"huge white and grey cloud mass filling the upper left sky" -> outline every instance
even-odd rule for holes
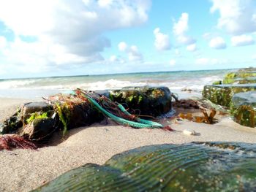
[[[2,52],[7,54],[0,65],[4,61],[6,65],[26,66],[30,58],[41,68],[50,69],[60,64],[71,68],[72,64],[100,61],[104,59],[100,53],[110,47],[110,40],[103,34],[145,23],[150,6],[150,0],[0,1],[0,21],[15,34],[12,42],[1,39]],[[34,41],[24,42],[21,36],[33,37]],[[41,50],[43,54],[38,53]],[[18,60],[22,56],[18,53],[24,53],[26,59]],[[15,57],[7,58],[10,55]]]

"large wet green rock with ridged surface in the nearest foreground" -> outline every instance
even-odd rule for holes
[[[35,191],[255,191],[256,145],[151,145],[86,164]]]

